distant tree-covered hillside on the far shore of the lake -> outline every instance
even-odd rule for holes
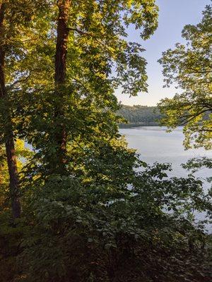
[[[121,124],[120,127],[129,127],[134,125],[158,125],[158,119],[161,114],[156,106],[126,106],[123,105],[119,115],[129,121],[128,125]]]

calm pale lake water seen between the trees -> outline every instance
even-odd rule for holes
[[[125,135],[129,147],[134,148],[140,154],[141,159],[148,164],[155,161],[171,163],[172,176],[187,176],[180,164],[193,157],[210,157],[212,151],[203,148],[184,150],[182,142],[184,135],[182,128],[176,128],[172,133],[166,133],[165,128],[158,126],[142,126],[136,128],[120,128],[119,133]],[[211,176],[211,170],[201,168],[196,176],[205,178]]]

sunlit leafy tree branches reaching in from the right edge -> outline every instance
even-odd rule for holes
[[[187,44],[176,44],[163,52],[165,86],[177,84],[180,91],[172,99],[158,104],[165,114],[162,124],[168,128],[184,125],[184,146],[212,147],[212,6],[206,6],[197,25],[186,25],[182,37]]]

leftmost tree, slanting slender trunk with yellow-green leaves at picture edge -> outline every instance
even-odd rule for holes
[[[0,126],[1,144],[5,144],[13,218],[20,217],[20,192],[15,150],[17,130],[14,121],[17,116],[12,93],[25,83],[28,74],[20,68],[27,49],[28,27],[35,14],[42,11],[45,1],[1,1],[0,4]]]

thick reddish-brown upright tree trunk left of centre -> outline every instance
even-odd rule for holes
[[[59,0],[57,1],[59,8],[58,21],[57,21],[57,45],[55,54],[55,94],[59,97],[59,102],[55,110],[56,118],[56,142],[57,142],[57,159],[59,163],[59,173],[65,171],[66,166],[66,130],[64,128],[64,110],[63,110],[63,87],[66,81],[66,54],[67,54],[67,42],[69,36],[69,8],[71,6],[71,0]],[[57,169],[58,171],[58,169]]]

